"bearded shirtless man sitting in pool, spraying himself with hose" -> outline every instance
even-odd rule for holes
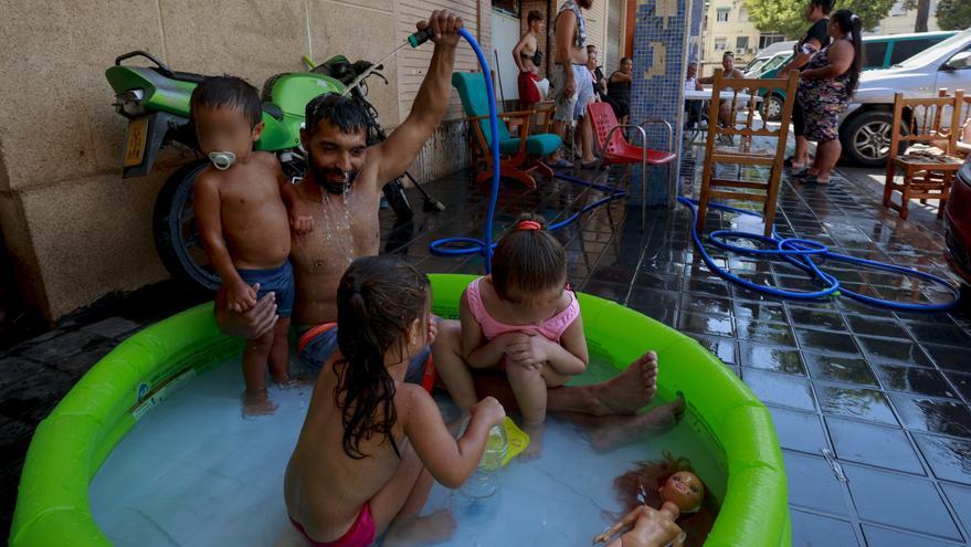
[[[434,29],[436,18],[444,24],[450,17],[455,18],[435,12],[430,24]],[[349,98],[323,96],[307,105],[302,139],[309,161],[306,177],[294,190],[313,217],[314,231],[307,235],[292,233],[291,262],[296,284],[293,324],[300,334],[297,349],[300,361],[314,370],[319,370],[337,348],[335,322],[340,277],[353,259],[378,254],[381,185],[404,172],[445,115],[457,40],[457,35],[435,39],[435,51],[411,113],[381,144],[367,146],[365,114]],[[226,334],[255,338],[273,328],[276,305],[271,293],[245,313],[232,312],[225,294],[220,292],[217,323]],[[432,328],[437,330],[430,348],[435,369],[452,390],[456,379],[461,383],[468,378],[462,359],[460,324],[441,320]],[[428,351],[410,364],[407,381],[421,383],[426,357]],[[629,417],[654,398],[656,378],[657,359],[651,353],[610,381],[550,389],[547,408],[597,417]],[[507,408],[515,408],[516,399],[504,378],[487,379],[476,389],[481,397],[495,393],[503,404],[509,404]],[[623,422],[625,427],[637,423]]]

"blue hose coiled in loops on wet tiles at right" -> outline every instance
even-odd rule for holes
[[[929,273],[920,272],[918,270],[898,266],[895,264],[886,264],[883,262],[876,262],[866,259],[857,259],[856,256],[848,256],[846,254],[840,254],[831,252],[830,249],[816,241],[798,239],[798,238],[779,238],[775,233],[775,230],[772,230],[772,236],[767,238],[761,234],[749,233],[749,232],[739,232],[735,230],[717,230],[708,234],[708,241],[711,242],[717,248],[724,249],[730,252],[757,255],[757,256],[777,256],[780,257],[790,264],[799,267],[804,271],[810,277],[816,281],[822,288],[820,291],[789,291],[784,288],[775,288],[767,285],[760,285],[758,283],[752,283],[749,280],[739,277],[732,273],[729,273],[721,266],[715,263],[708,252],[705,250],[705,245],[701,242],[701,238],[698,235],[697,230],[697,217],[698,217],[698,203],[696,200],[678,197],[678,203],[689,208],[692,210],[692,239],[695,241],[695,246],[698,248],[698,252],[701,254],[701,260],[705,261],[705,264],[713,272],[718,275],[725,277],[732,283],[738,283],[747,288],[752,291],[758,291],[760,293],[769,294],[772,296],[779,296],[782,298],[793,298],[801,301],[813,301],[825,298],[832,295],[844,294],[855,301],[863,302],[865,304],[869,304],[872,306],[885,307],[898,312],[946,312],[948,309],[953,308],[958,304],[958,299],[960,298],[960,292],[957,287],[954,287],[947,280],[938,277],[937,275],[931,275]],[[710,203],[709,207],[714,209],[721,209],[724,211],[730,211],[739,214],[748,214],[750,217],[759,217],[759,214],[753,213],[751,211],[746,211],[743,209],[737,209],[729,206],[722,206],[720,203]],[[748,246],[733,245],[727,242],[727,240],[750,240],[756,241],[760,244],[758,249],[752,249]],[[907,275],[911,277],[918,277],[925,281],[929,281],[937,285],[942,285],[948,288],[953,295],[953,299],[946,303],[940,304],[906,304],[901,302],[893,302],[883,298],[875,298],[873,296],[866,296],[864,294],[859,294],[853,292],[845,286],[840,285],[840,280],[837,280],[834,275],[828,274],[820,269],[814,259],[826,259],[838,262],[848,262],[851,264],[857,264],[870,270],[883,270],[886,272],[899,273],[901,275]]]

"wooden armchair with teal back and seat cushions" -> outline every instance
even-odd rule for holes
[[[489,145],[492,143],[492,130],[489,129],[488,116],[488,97],[486,94],[485,80],[482,73],[477,72],[456,72],[452,74],[452,85],[458,91],[462,98],[462,107],[465,111],[472,130],[475,133],[478,149],[488,162],[488,169],[479,171],[476,181],[482,182],[493,177],[493,157],[489,154]],[[556,151],[562,140],[559,136],[545,133],[531,134],[530,119],[536,115],[536,111],[507,112],[499,114],[504,123],[499,124],[499,152],[503,158],[499,160],[499,176],[503,178],[516,179],[524,185],[536,188],[536,179],[532,172],[539,172],[548,178],[552,178],[553,171],[542,164],[540,159]],[[549,124],[549,115],[546,124]],[[508,120],[518,119],[520,124],[520,136],[513,137],[509,133]]]

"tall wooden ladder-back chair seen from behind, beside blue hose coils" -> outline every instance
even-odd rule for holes
[[[758,201],[764,203],[762,218],[766,223],[766,235],[772,234],[772,223],[775,219],[775,204],[779,198],[779,181],[782,177],[782,164],[785,158],[785,139],[789,137],[789,119],[792,117],[792,105],[795,97],[795,86],[799,74],[790,73],[788,78],[731,78],[724,77],[721,69],[715,71],[714,87],[711,92],[710,112],[708,114],[708,139],[705,143],[705,168],[701,173],[701,193],[698,199],[698,231],[704,231],[705,219],[708,212],[708,201],[714,199],[733,199],[741,201]],[[778,128],[769,127],[768,115],[762,105],[759,122],[756,123],[758,111],[758,95],[760,90],[772,92],[785,91],[785,103],[782,106],[782,118]],[[731,112],[738,113],[739,106],[746,106],[742,115],[735,117],[730,127],[722,127],[718,119],[718,109],[722,92],[730,93],[730,98],[725,98],[731,105]],[[739,98],[740,93],[748,94],[748,98]],[[741,101],[741,103],[740,103]],[[738,145],[735,139],[738,137]],[[775,139],[775,146],[760,148],[756,146],[754,137]],[[731,140],[730,146],[724,145],[724,140]],[[714,171],[715,164],[735,164],[738,166],[763,166],[769,168],[769,176],[764,181],[733,180],[720,178]],[[721,190],[725,188],[727,190]],[[742,189],[746,191],[738,191]]]

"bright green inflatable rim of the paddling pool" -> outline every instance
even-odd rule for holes
[[[457,317],[474,276],[433,274],[435,313]],[[727,492],[706,546],[791,545],[785,469],[766,407],[698,343],[613,302],[580,295],[591,354],[629,364],[654,349],[662,398],[683,392],[724,452]],[[110,545],[91,514],[88,484],[144,412],[196,374],[242,350],[219,332],[212,304],[152,325],[97,362],[38,425],[23,473],[10,545]]]

